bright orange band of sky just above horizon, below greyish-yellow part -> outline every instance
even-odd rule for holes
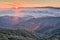
[[[60,4],[28,4],[28,3],[0,3],[0,8],[11,8],[11,7],[41,7],[41,6],[54,6],[60,7]]]

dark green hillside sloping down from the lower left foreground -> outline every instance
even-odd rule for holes
[[[39,40],[38,36],[25,29],[0,28],[0,40]]]

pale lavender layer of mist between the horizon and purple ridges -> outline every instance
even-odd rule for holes
[[[53,16],[53,17],[60,17],[60,9],[53,9],[53,8],[20,8],[20,11],[17,14],[21,16],[34,16],[34,17],[46,17],[46,16]],[[0,9],[0,16],[1,15],[15,15],[15,12],[12,9]],[[15,15],[15,16],[18,16]]]

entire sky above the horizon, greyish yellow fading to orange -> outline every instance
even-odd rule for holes
[[[0,0],[0,8],[41,6],[60,7],[60,0]]]

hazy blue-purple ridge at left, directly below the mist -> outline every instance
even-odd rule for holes
[[[17,17],[18,20],[16,20],[16,24],[18,24],[19,22],[23,22],[23,21],[27,21],[31,18],[34,18],[32,16],[26,16],[26,17],[18,17],[18,16],[0,16],[0,27],[14,27],[13,24],[14,22],[14,17]]]

